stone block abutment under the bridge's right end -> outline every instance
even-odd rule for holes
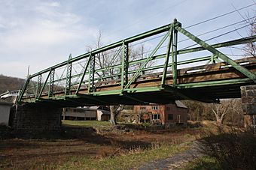
[[[256,85],[241,87],[242,111],[245,129],[256,133]]]

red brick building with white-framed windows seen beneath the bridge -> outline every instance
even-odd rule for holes
[[[134,106],[133,111],[140,115],[141,122],[163,124],[166,127],[175,124],[187,125],[187,106],[179,100],[166,105]]]

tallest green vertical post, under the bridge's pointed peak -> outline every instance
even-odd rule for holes
[[[177,23],[177,19],[174,19],[174,25]],[[177,83],[177,45],[178,45],[178,31],[175,29],[175,26],[172,26],[174,36],[173,36],[173,43],[172,43],[172,77],[173,83],[172,86],[175,87]]]

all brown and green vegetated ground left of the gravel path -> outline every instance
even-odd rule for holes
[[[130,162],[139,166],[184,151],[199,132],[195,129],[125,131],[109,124],[96,129],[69,126],[58,136],[42,134],[34,139],[5,136],[0,140],[0,169],[69,169],[74,165],[78,169],[108,169],[113,165],[118,169],[116,161],[123,162],[119,166],[134,168]],[[181,143],[187,145],[178,148]]]

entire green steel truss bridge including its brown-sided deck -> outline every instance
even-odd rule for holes
[[[178,49],[178,34],[197,46]],[[136,57],[136,44],[151,40],[151,49],[137,52]],[[256,58],[231,59],[221,48],[255,40],[252,36],[210,45],[175,19],[75,58],[70,55],[67,61],[29,76],[17,103],[133,105],[184,99],[210,103],[240,97],[240,86],[256,82]]]

